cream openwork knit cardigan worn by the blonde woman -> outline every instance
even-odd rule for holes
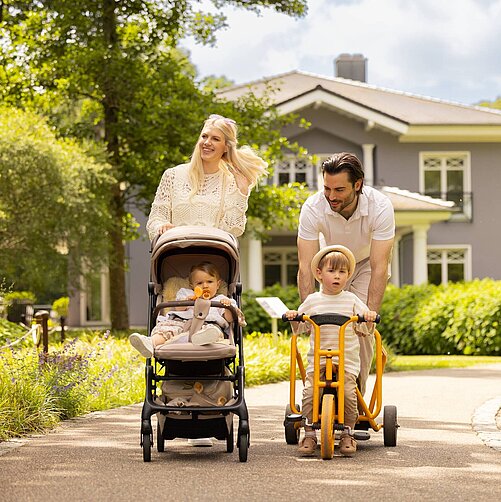
[[[216,227],[235,237],[242,235],[249,196],[240,192],[235,178],[222,171],[207,174],[202,187],[190,200],[188,169],[188,164],[181,164],[164,172],[146,224],[150,240],[156,237],[158,229],[165,223]]]

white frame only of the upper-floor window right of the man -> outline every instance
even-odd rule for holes
[[[469,151],[425,151],[419,153],[419,191],[425,193],[426,187],[424,184],[425,159],[429,157],[437,157],[441,159],[440,166],[440,191],[446,193],[447,190],[447,159],[450,157],[464,157],[463,167],[463,193],[469,195],[468,200],[464,200],[463,211],[455,213],[451,216],[451,221],[471,221],[472,219],[472,192],[471,192],[471,153]]]

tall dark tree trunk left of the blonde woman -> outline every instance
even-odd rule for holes
[[[106,149],[115,174],[118,174],[120,172],[120,150],[117,131],[120,102],[118,98],[117,76],[115,75],[115,71],[113,71],[113,61],[119,57],[117,52],[115,6],[115,0],[104,1],[103,35],[108,47],[109,57],[103,62],[103,108]],[[117,176],[117,183],[112,188],[111,209],[113,226],[110,231],[108,265],[110,276],[111,328],[124,330],[129,328],[129,313],[125,291],[125,249],[123,242],[125,208],[120,190],[120,176]]]

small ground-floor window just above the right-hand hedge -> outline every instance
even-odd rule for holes
[[[470,247],[428,247],[428,282],[445,284],[471,280]]]

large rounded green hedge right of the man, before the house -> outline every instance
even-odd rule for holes
[[[388,287],[380,331],[400,354],[501,354],[501,282]]]

